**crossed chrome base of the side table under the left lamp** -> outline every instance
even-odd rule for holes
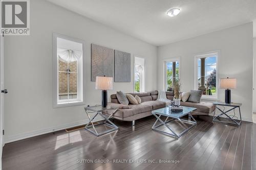
[[[89,109],[87,108],[84,108],[86,110],[86,114],[90,120],[90,122],[84,127],[85,130],[87,130],[88,132],[94,134],[95,136],[100,136],[100,135],[103,135],[103,134],[106,134],[106,133],[109,133],[109,132],[112,132],[112,131],[115,131],[115,130],[118,130],[118,127],[112,123],[110,121],[110,117],[117,111],[117,109],[110,115],[110,116],[105,116],[102,114],[101,110],[100,111],[97,111],[97,113],[93,116],[93,118],[90,117],[90,115],[88,113],[95,113],[95,112],[88,112]],[[104,118],[104,122],[101,122],[101,123],[98,123],[98,124],[95,124],[95,122],[93,122],[94,118],[97,116],[97,115],[100,115],[102,118]],[[90,125],[91,124],[91,125]],[[97,130],[96,130],[96,127],[97,126],[101,126],[101,125],[106,125],[112,129],[110,130],[106,130],[106,131],[103,131],[103,132],[100,132],[98,133]],[[93,128],[93,130],[91,130],[90,128]]]

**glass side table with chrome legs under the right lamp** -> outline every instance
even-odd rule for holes
[[[218,116],[215,116],[215,113],[216,113],[216,109],[215,109],[214,117],[212,117],[212,122],[218,122],[218,123],[233,125],[233,126],[240,126],[241,125],[241,123],[242,123],[241,111],[240,111],[240,106],[242,106],[241,103],[227,104],[227,103],[224,103],[224,102],[214,102],[214,105],[215,105],[216,109],[218,109],[221,112],[221,114],[219,114]],[[218,106],[228,106],[228,107],[231,107],[231,109],[224,112]],[[227,112],[230,112],[232,110],[234,111],[234,109],[236,109],[236,108],[239,109],[240,120],[239,119],[234,119],[234,117],[237,117],[235,112],[234,112],[234,115],[228,115],[227,114]],[[219,118],[221,118],[222,115],[226,116],[226,118],[222,117],[222,118],[226,119],[226,121],[219,119]],[[237,118],[239,118],[239,117],[237,117]],[[229,122],[228,122],[228,120],[229,120]]]

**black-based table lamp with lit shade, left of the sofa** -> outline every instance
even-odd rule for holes
[[[101,92],[101,106],[103,108],[108,105],[108,92],[106,90],[113,89],[113,78],[112,77],[96,77],[96,90],[102,90]]]

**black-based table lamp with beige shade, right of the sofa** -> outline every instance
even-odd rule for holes
[[[236,78],[222,78],[220,79],[220,88],[225,90],[225,103],[231,103],[231,90],[237,88],[237,79]]]

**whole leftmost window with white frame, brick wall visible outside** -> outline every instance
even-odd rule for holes
[[[83,43],[55,35],[55,106],[77,105],[83,100]]]

